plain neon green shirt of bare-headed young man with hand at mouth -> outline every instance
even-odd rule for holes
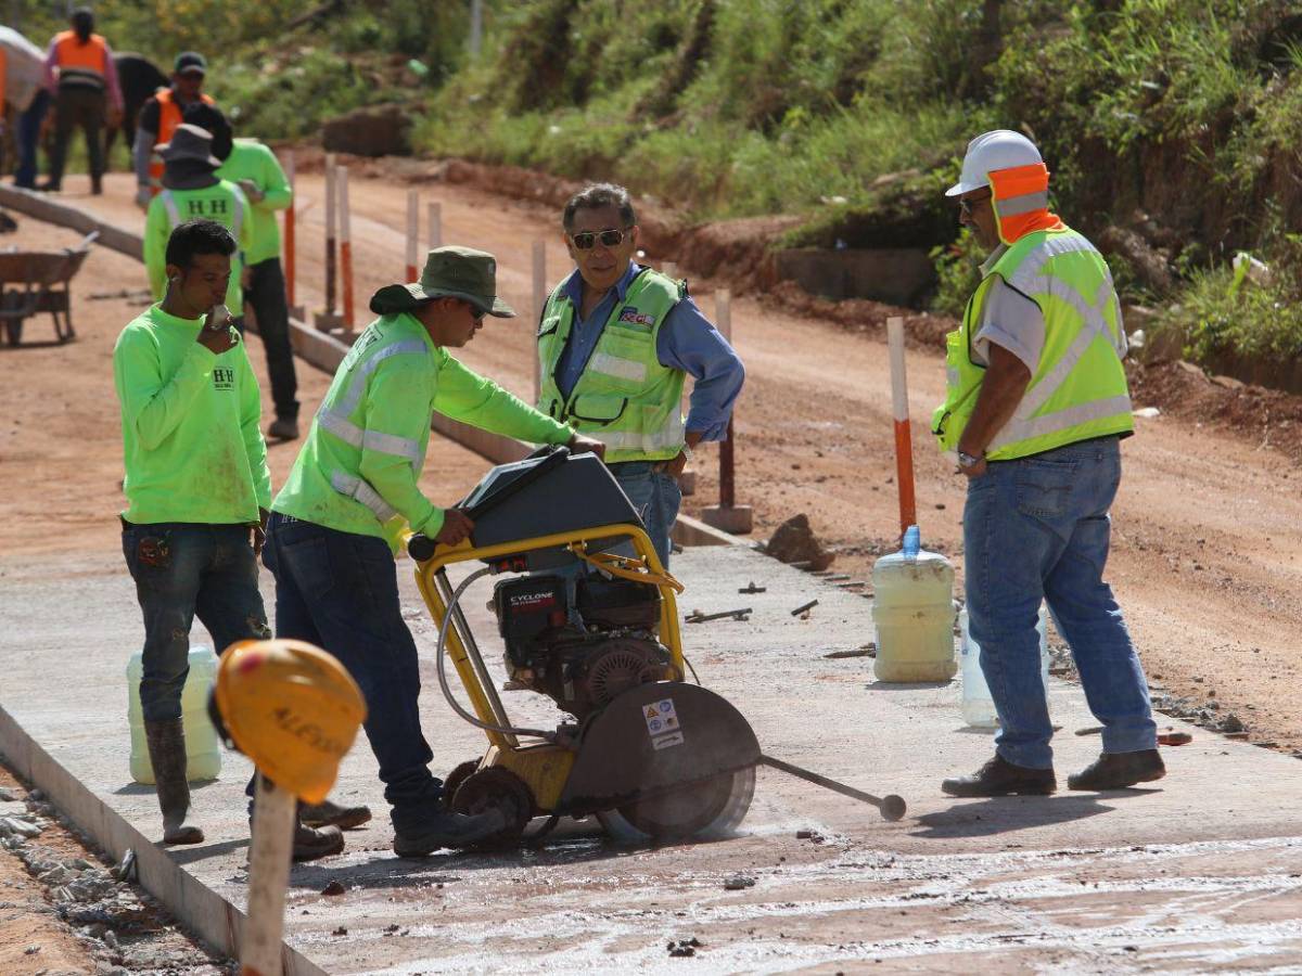
[[[155,305],[113,346],[128,522],[241,524],[271,505],[258,377],[243,342],[216,355],[201,325]]]

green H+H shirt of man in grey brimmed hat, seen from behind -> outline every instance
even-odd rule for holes
[[[243,269],[241,252],[253,245],[253,220],[243,190],[228,180],[219,180],[202,190],[164,189],[150,200],[145,215],[145,271],[150,276],[154,301],[163,301],[167,291],[167,242],[172,230],[186,220],[207,217],[234,234],[240,246],[230,255],[230,284],[227,286],[227,308],[232,315],[243,315],[243,289],[240,272]]]

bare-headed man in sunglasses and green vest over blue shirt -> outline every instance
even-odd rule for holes
[[[686,282],[633,260],[638,226],[628,190],[587,186],[561,223],[575,269],[539,323],[538,409],[605,445],[611,472],[668,566],[682,501],[676,479],[693,448],[725,436],[745,370]],[[687,373],[695,385],[684,422]]]

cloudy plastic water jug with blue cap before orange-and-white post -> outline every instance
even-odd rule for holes
[[[954,662],[954,567],[921,545],[917,526],[904,549],[872,566],[878,681],[949,681]]]

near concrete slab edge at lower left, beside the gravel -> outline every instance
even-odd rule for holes
[[[190,874],[60,765],[0,707],[0,752],[26,782],[40,789],[81,830],[115,860],[135,851],[141,885],[168,907],[186,928],[219,953],[238,958],[245,914]],[[327,976],[326,969],[281,943],[285,976]]]

